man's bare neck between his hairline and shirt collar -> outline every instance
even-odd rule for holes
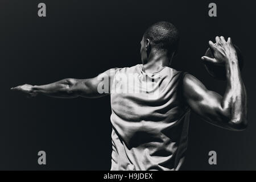
[[[143,64],[144,72],[155,73],[167,67],[170,64],[170,59],[166,54],[148,56],[146,64]]]

